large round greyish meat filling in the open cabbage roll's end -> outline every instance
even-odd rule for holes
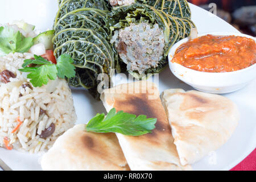
[[[127,71],[144,73],[156,68],[164,52],[164,34],[158,24],[134,24],[115,31],[112,42],[120,58],[127,64]]]

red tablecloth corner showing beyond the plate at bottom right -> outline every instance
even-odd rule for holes
[[[256,171],[256,149],[230,171]]]

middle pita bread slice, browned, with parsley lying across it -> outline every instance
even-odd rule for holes
[[[106,89],[101,94],[101,100],[107,111],[115,107],[117,111],[158,119],[156,128],[150,134],[131,137],[117,133],[131,170],[192,169],[189,165],[180,164],[158,88],[152,82],[138,81]]]

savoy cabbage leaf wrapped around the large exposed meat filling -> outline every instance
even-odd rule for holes
[[[149,68],[145,71],[146,75],[154,75],[160,73],[168,64],[167,56],[170,48],[180,39],[190,35],[191,28],[194,27],[189,18],[179,18],[165,13],[163,10],[157,10],[152,6],[143,5],[141,3],[133,3],[128,6],[113,7],[113,11],[109,15],[110,30],[112,34],[115,30],[120,30],[130,26],[131,23],[139,24],[142,22],[149,23],[153,26],[155,23],[162,28],[164,33],[165,48],[164,55],[159,61],[158,66]],[[121,58],[119,57],[121,60]],[[140,75],[136,71],[129,71],[137,79],[142,79],[144,75]],[[144,77],[147,78],[147,77]]]

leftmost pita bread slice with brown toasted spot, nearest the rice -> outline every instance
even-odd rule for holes
[[[113,133],[89,133],[76,125],[61,135],[43,155],[46,171],[123,171],[129,170]]]

